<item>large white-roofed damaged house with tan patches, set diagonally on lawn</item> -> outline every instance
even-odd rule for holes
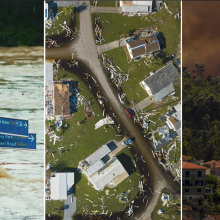
[[[98,191],[105,186],[113,188],[129,175],[115,156],[111,156],[112,149],[103,145],[79,164],[79,168],[88,181]]]

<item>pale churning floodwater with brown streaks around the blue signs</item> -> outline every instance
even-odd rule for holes
[[[0,116],[29,120],[37,150],[0,148],[0,218],[44,218],[43,47],[0,48]]]

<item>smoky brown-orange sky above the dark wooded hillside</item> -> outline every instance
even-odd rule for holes
[[[220,1],[183,1],[183,66],[205,64],[205,76],[220,76]]]

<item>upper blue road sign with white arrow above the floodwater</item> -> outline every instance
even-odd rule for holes
[[[28,137],[28,120],[0,117],[0,133]]]

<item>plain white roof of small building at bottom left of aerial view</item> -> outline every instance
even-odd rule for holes
[[[54,177],[50,179],[51,185],[51,199],[66,200],[67,191],[74,184],[74,173],[55,173]]]

